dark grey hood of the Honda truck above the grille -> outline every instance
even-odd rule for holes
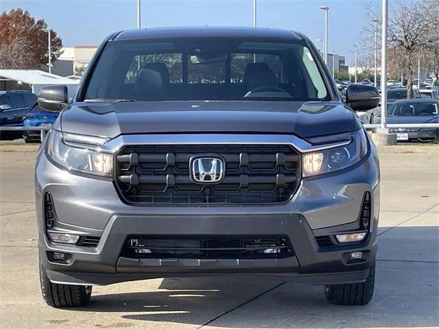
[[[296,134],[305,138],[350,132],[358,121],[337,101],[135,101],[74,103],[57,123],[64,132],[108,138],[161,133]]]

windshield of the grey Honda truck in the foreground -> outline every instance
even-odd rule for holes
[[[108,42],[84,100],[329,99],[305,45],[230,38]]]

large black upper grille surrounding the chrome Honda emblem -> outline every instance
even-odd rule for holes
[[[192,158],[224,160],[224,180],[191,178]],[[132,204],[272,204],[286,202],[300,181],[300,156],[288,145],[136,145],[121,149],[116,184]]]

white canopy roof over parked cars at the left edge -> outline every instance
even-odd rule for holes
[[[38,95],[41,88],[55,84],[67,86],[68,97],[75,95],[79,80],[71,80],[59,75],[50,74],[40,70],[3,70],[0,69],[0,81],[14,81],[18,84],[27,84],[32,88],[32,93]]]

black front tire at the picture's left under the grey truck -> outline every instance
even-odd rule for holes
[[[40,284],[43,300],[53,307],[86,306],[91,296],[91,286],[58,284],[50,282],[46,269],[40,264]]]

